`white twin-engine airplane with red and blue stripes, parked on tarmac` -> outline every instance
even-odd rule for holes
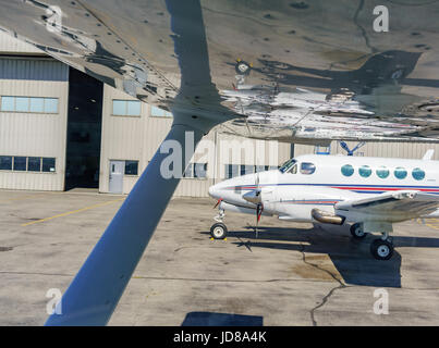
[[[429,160],[431,154],[428,151],[423,160],[307,154],[279,170],[221,182],[209,188],[219,207],[210,234],[225,238],[225,210],[256,214],[257,222],[260,215],[277,215],[294,222],[351,224],[356,239],[381,233],[370,252],[389,260],[393,223],[439,216],[439,163]]]

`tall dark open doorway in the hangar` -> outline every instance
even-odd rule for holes
[[[65,189],[99,187],[103,84],[75,69],[69,72]]]

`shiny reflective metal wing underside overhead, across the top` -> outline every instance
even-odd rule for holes
[[[293,142],[439,140],[439,3],[0,0],[0,29],[163,109]]]

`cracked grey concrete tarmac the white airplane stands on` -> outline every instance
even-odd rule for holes
[[[66,289],[123,199],[0,190],[0,325],[45,323],[48,290]],[[439,220],[395,225],[377,261],[373,236],[276,217],[256,238],[255,216],[227,213],[211,240],[214,203],[170,202],[110,325],[439,325]]]

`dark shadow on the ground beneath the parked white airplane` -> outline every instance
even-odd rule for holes
[[[229,231],[237,247],[249,251],[256,248],[327,253],[346,285],[374,287],[401,287],[401,254],[399,247],[439,248],[439,238],[393,237],[395,250],[392,259],[378,261],[369,252],[369,246],[378,236],[354,240],[349,231],[324,231],[320,228],[258,227],[258,237],[253,226]],[[290,243],[289,243],[290,241]],[[302,244],[301,244],[302,243]],[[313,262],[314,263],[314,262]]]

